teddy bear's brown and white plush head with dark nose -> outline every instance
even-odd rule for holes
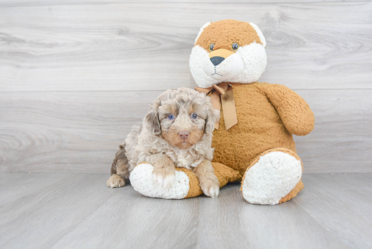
[[[190,55],[190,70],[199,87],[221,82],[256,82],[265,71],[266,40],[254,23],[221,20],[204,24]]]

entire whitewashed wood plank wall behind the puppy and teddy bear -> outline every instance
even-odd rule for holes
[[[108,172],[162,91],[195,86],[199,27],[233,18],[267,38],[260,81],[315,113],[295,138],[304,171],[372,172],[371,2],[81,2],[0,2],[0,171]]]

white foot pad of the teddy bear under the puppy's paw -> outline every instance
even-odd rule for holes
[[[158,187],[152,180],[152,171],[154,167],[148,163],[137,165],[130,173],[130,184],[138,193],[163,199],[183,199],[187,196],[189,180],[187,175],[182,171],[176,171],[175,184],[167,189]]]

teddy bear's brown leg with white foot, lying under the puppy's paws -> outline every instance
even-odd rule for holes
[[[212,162],[212,166],[220,188],[225,186],[227,182],[232,182],[241,178],[238,171],[223,164]],[[154,167],[146,162],[138,164],[133,169],[129,179],[134,190],[144,196],[163,199],[184,199],[203,194],[199,186],[199,180],[192,170],[175,168],[176,180],[174,185],[168,189],[164,189],[154,184],[152,179],[153,169]]]

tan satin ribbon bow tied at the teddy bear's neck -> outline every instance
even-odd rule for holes
[[[221,111],[221,104],[223,110],[223,119],[225,120],[226,130],[238,124],[238,118],[236,117],[235,100],[232,87],[226,82],[222,82],[218,85],[213,85],[208,88],[195,87],[195,90],[199,93],[206,95],[210,94],[212,106],[214,109]],[[218,129],[219,120],[214,123],[214,128]]]

